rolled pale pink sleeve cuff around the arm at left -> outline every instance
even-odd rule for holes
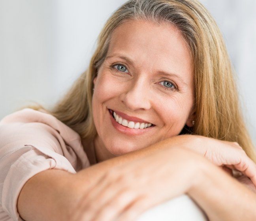
[[[23,221],[17,211],[17,199],[22,187],[32,176],[47,169],[62,169],[76,173],[63,155],[39,146],[24,146],[30,150],[11,165],[2,189],[2,208],[13,221]]]

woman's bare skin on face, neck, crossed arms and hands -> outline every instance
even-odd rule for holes
[[[177,136],[185,124],[192,126],[195,114],[192,64],[179,31],[164,24],[127,22],[112,36],[107,56],[114,53],[129,56],[134,65],[120,58],[105,60],[94,79],[93,118],[99,135],[94,146],[100,163],[72,176],[59,170],[33,176],[18,199],[21,217],[132,221],[187,193],[210,221],[255,220],[256,166],[239,144]],[[127,71],[110,68],[117,64]],[[161,76],[159,70],[176,73],[185,84],[179,77]],[[165,90],[163,81],[178,90]],[[107,108],[156,126],[144,135],[122,134],[111,124]],[[225,171],[220,169],[224,166]],[[239,181],[247,186],[229,169],[241,171]]]

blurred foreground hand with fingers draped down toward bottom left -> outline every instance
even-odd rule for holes
[[[92,184],[69,220],[135,220],[152,206],[187,193],[205,162],[191,150],[174,147],[129,161]]]

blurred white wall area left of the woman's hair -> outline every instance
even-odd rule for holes
[[[53,105],[85,71],[96,38],[124,0],[0,0],[0,119]]]

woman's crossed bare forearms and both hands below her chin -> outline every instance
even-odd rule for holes
[[[245,165],[241,170],[248,168],[247,172],[256,174],[255,165],[237,144],[208,139],[174,136],[77,174],[45,170],[24,185],[18,198],[18,212],[26,221],[107,221],[119,216],[117,220],[128,221],[157,203],[187,192],[210,221],[255,220],[255,187],[243,185],[252,184],[251,180],[245,177],[240,184],[215,163],[232,165],[241,161],[237,168]],[[221,148],[213,151],[216,145]],[[141,200],[137,200],[141,195]]]

